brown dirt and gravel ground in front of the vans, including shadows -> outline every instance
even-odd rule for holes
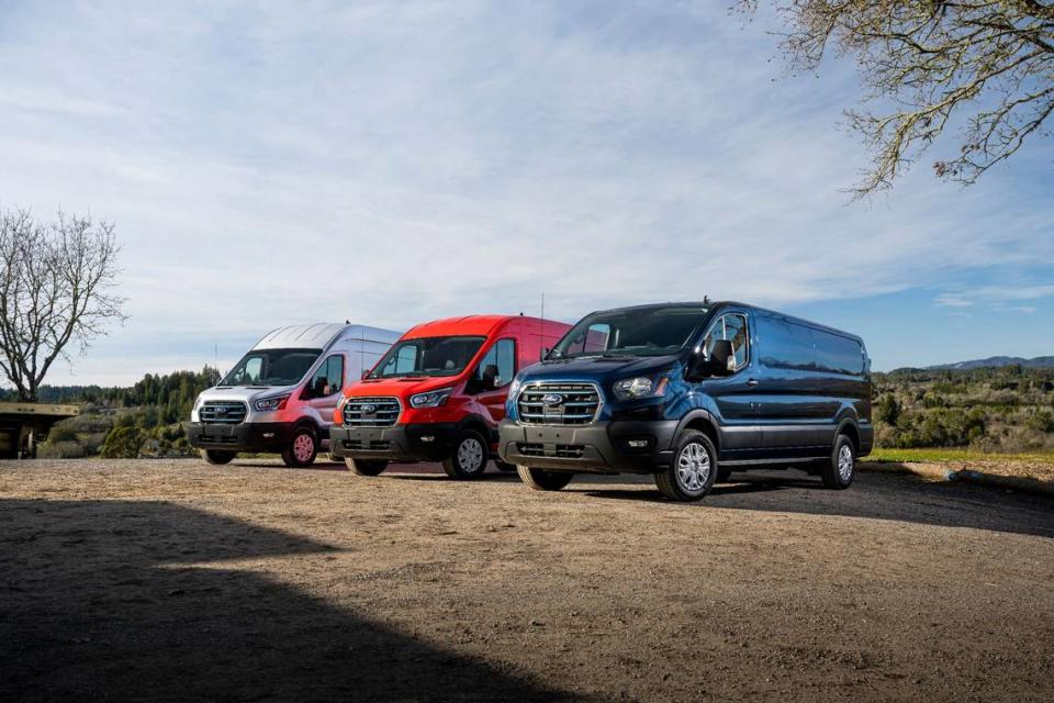
[[[0,464],[0,701],[1051,701],[1054,501]]]

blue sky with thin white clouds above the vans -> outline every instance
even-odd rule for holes
[[[851,59],[728,2],[0,0],[0,208],[112,221],[124,325],[51,383],[267,331],[736,299],[875,369],[1054,354],[1054,145],[868,201]]]

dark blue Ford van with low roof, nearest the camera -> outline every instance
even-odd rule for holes
[[[653,473],[698,500],[733,470],[801,468],[849,488],[871,451],[871,360],[852,334],[736,302],[595,312],[520,371],[498,453],[525,483]]]

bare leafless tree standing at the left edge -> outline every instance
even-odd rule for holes
[[[0,370],[20,400],[36,400],[70,343],[83,354],[109,323],[124,321],[124,300],[113,292],[119,250],[109,222],[0,213]]]

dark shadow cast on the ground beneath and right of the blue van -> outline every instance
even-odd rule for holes
[[[866,517],[1054,537],[1054,501],[1049,498],[931,482],[913,475],[884,470],[857,472],[852,488],[845,491],[827,490],[818,478],[795,470],[737,472],[730,482],[715,486],[710,494],[697,503],[671,503],[653,489],[651,477],[618,477],[620,486],[612,489],[578,487],[578,480],[575,478],[565,490],[607,500],[650,501],[695,510]],[[640,488],[627,489],[627,482]]]

